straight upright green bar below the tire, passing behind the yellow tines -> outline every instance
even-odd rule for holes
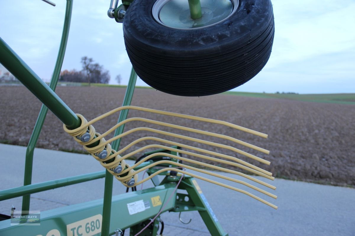
[[[137,73],[134,71],[133,67],[131,69],[130,80],[127,85],[125,98],[123,99],[122,106],[131,105],[133,92],[136,86]],[[128,110],[122,110],[118,122],[124,121],[127,118]],[[121,134],[124,130],[124,125],[120,126],[115,130],[115,135]],[[121,139],[117,139],[112,143],[112,148],[118,150],[120,147]],[[113,175],[106,171],[105,178],[105,191],[104,191],[104,203],[102,211],[102,231],[101,236],[109,236],[110,234],[110,220],[111,220],[111,202],[112,202],[112,185],[113,185]]]

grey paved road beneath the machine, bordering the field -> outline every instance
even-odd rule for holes
[[[25,153],[25,147],[0,144],[0,190],[23,184]],[[89,155],[36,149],[32,183],[100,170],[103,167]],[[239,192],[197,181],[230,236],[355,236],[355,189],[275,179],[268,183],[277,186],[277,190],[273,191],[278,196],[277,200],[256,193],[277,205],[279,208],[275,210]],[[228,184],[233,185],[230,182]],[[149,186],[152,184],[144,183],[144,188]],[[238,184],[235,186],[240,187]],[[31,209],[45,211],[102,198],[103,189],[104,180],[98,179],[40,192],[31,195]],[[113,193],[116,195],[123,192],[124,186],[115,181]],[[12,205],[20,209],[21,198],[0,202],[0,213],[9,214]],[[164,235],[209,235],[197,212],[182,213],[182,218],[185,221],[191,218],[192,221],[185,225],[179,222],[177,213],[162,214]]]

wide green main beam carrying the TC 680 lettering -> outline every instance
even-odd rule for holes
[[[113,196],[112,207],[115,211],[111,213],[110,232],[113,233],[117,228],[125,229],[137,224],[143,220],[154,217],[161,209],[162,205],[153,206],[152,197],[160,196],[162,202],[166,202],[167,198],[173,193],[176,185],[165,184],[150,189],[143,189],[134,192],[128,192],[121,195]],[[150,208],[133,215],[129,214],[127,203],[143,200],[148,201]],[[170,201],[165,205],[162,212],[167,212],[174,208],[176,203],[176,194],[173,194]],[[102,199],[89,202],[78,203],[75,205],[59,207],[49,211],[41,211],[40,226],[11,226],[11,219],[0,221],[1,236],[65,236],[65,235],[100,235],[102,231]],[[92,218],[97,219],[99,224],[93,234],[85,234],[86,224],[89,224]],[[96,223],[96,220],[95,220]],[[68,234],[69,231],[69,234]],[[50,232],[50,233],[49,233]],[[74,234],[75,232],[75,234]],[[126,233],[126,236],[128,234]]]

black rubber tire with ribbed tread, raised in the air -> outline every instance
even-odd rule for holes
[[[224,21],[187,30],[155,21],[155,1],[134,0],[123,22],[133,68],[153,88],[179,96],[217,94],[249,81],[267,63],[274,39],[270,0],[240,0]]]

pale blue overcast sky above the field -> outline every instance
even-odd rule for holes
[[[60,43],[65,0],[0,3],[0,37],[43,80],[49,81]],[[273,0],[275,39],[266,67],[234,91],[355,93],[355,1]],[[110,0],[73,1],[62,69],[81,69],[92,57],[127,84],[130,62],[122,24],[107,16]],[[146,85],[142,80],[137,85]]]

